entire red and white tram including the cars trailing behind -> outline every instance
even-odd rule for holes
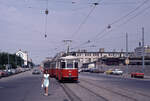
[[[75,56],[64,56],[44,63],[50,77],[59,81],[78,80],[78,59]]]

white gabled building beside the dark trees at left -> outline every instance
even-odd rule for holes
[[[17,56],[20,56],[24,60],[24,66],[28,65],[28,53],[26,51],[19,50],[16,52]]]

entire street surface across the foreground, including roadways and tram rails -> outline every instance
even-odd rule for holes
[[[41,77],[42,75],[32,75],[32,72],[28,71],[0,79],[0,101],[70,101],[71,99],[72,101],[149,101],[150,99],[150,79],[80,73],[78,83],[60,84],[54,78],[50,78],[50,95],[44,96]]]

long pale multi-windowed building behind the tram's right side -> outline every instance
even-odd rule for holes
[[[72,55],[77,56],[79,59],[79,66],[81,67],[83,64],[92,63],[98,61],[100,58],[124,58],[126,57],[126,52],[105,52],[103,48],[101,48],[98,52],[87,52],[87,51],[77,51],[71,52]],[[133,53],[129,52],[129,56]]]

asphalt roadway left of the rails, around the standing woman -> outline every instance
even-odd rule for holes
[[[0,101],[68,101],[55,79],[50,79],[49,96],[43,95],[41,75],[32,72],[0,79]]]

